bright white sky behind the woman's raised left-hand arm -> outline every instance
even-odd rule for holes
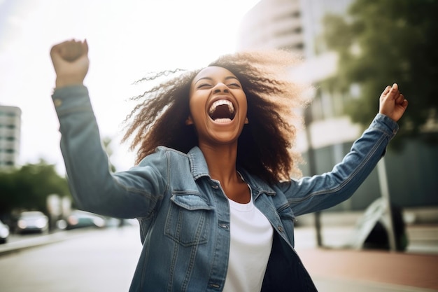
[[[59,123],[50,95],[50,47],[87,39],[90,90],[113,164],[133,164],[120,144],[121,122],[141,93],[133,81],[148,71],[203,67],[232,53],[243,15],[258,0],[0,0],[0,104],[22,109],[20,163],[40,158],[64,173]]]

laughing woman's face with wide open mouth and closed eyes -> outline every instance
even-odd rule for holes
[[[199,144],[236,143],[248,123],[246,95],[239,80],[222,67],[206,67],[190,87],[190,116]]]

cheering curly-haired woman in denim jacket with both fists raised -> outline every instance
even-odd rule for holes
[[[294,219],[348,199],[372,171],[407,108],[397,85],[332,172],[290,179],[290,109],[302,104],[302,88],[281,78],[290,55],[226,55],[138,97],[125,136],[136,166],[111,173],[83,85],[87,50],[52,47],[52,98],[78,205],[140,222],[130,291],[316,291],[293,249]]]

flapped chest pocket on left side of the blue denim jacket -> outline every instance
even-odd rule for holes
[[[170,200],[164,234],[182,246],[205,244],[213,207],[196,193],[174,192]]]

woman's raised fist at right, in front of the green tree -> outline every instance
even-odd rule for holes
[[[408,106],[407,99],[398,90],[397,83],[393,86],[386,86],[383,90],[379,101],[379,113],[392,118],[395,122],[402,118],[404,111]]]

